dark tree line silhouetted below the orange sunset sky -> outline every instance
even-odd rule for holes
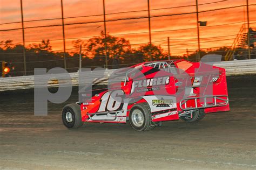
[[[137,48],[132,48],[130,41],[125,38],[111,36],[100,32],[98,37],[90,38],[87,41],[77,39],[72,41],[72,52],[66,52],[66,65],[68,72],[77,72],[79,67],[79,47],[82,46],[82,67],[104,67],[105,56],[107,56],[107,63],[109,68],[112,68],[112,61],[117,56],[120,67],[129,67],[132,63],[140,63],[150,61],[150,52],[152,60],[167,60],[168,52],[164,51],[161,46],[152,44],[140,45]],[[107,48],[105,49],[105,45]],[[220,47],[218,49],[206,49],[200,51],[200,56],[206,54],[220,54],[225,56],[228,48]],[[196,52],[184,55],[171,56],[171,59],[188,59],[194,61],[196,59]],[[26,70],[28,75],[33,75],[34,68],[47,68],[63,67],[64,53],[61,51],[52,51],[52,46],[49,39],[43,39],[38,44],[29,44],[25,47],[26,56]],[[12,62],[15,67],[12,75],[23,75],[23,46],[14,44],[12,40],[0,41],[0,60]]]

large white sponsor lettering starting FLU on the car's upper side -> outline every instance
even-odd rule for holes
[[[147,87],[151,87],[151,86],[159,86],[159,85],[163,85],[163,84],[169,84],[169,82],[170,82],[169,76],[133,81],[131,94],[134,92],[134,89],[136,89],[136,88],[143,88],[143,87],[147,88]],[[154,90],[154,89],[151,89],[151,90]],[[145,91],[151,91],[151,90],[145,89]],[[139,91],[137,91],[137,92],[139,92]]]

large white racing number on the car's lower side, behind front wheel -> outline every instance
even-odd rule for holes
[[[102,98],[100,98],[100,106],[98,112],[120,110],[123,106],[123,90],[107,91]]]

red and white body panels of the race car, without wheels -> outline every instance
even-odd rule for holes
[[[145,102],[150,105],[153,122],[178,120],[179,115],[192,110],[190,108],[204,109],[206,113],[230,110],[224,68],[212,66],[214,74],[209,75],[207,72],[197,71],[201,65],[199,62],[177,60],[172,66],[168,66],[178,68],[180,73],[174,75],[160,68],[165,67],[167,62],[159,61],[159,66],[156,63],[158,62],[143,62],[130,67],[137,68],[140,72],[127,74],[126,81],[111,83],[109,89],[95,94],[91,101],[81,103],[82,121],[125,123],[133,105]],[[211,81],[214,82],[209,83]],[[180,86],[188,82],[190,86]],[[212,84],[212,95],[207,98],[208,95],[204,94],[209,84]],[[184,98],[184,95],[178,95],[182,88],[190,89],[191,96]],[[203,96],[200,96],[200,91],[204,92]],[[113,94],[122,102],[115,100],[111,96]],[[129,102],[124,102],[125,100]]]

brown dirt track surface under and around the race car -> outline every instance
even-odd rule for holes
[[[0,93],[0,169],[256,169],[256,75],[230,76],[230,112],[198,123],[164,122],[137,132],[127,124],[68,130],[66,103],[33,116],[33,91]]]

